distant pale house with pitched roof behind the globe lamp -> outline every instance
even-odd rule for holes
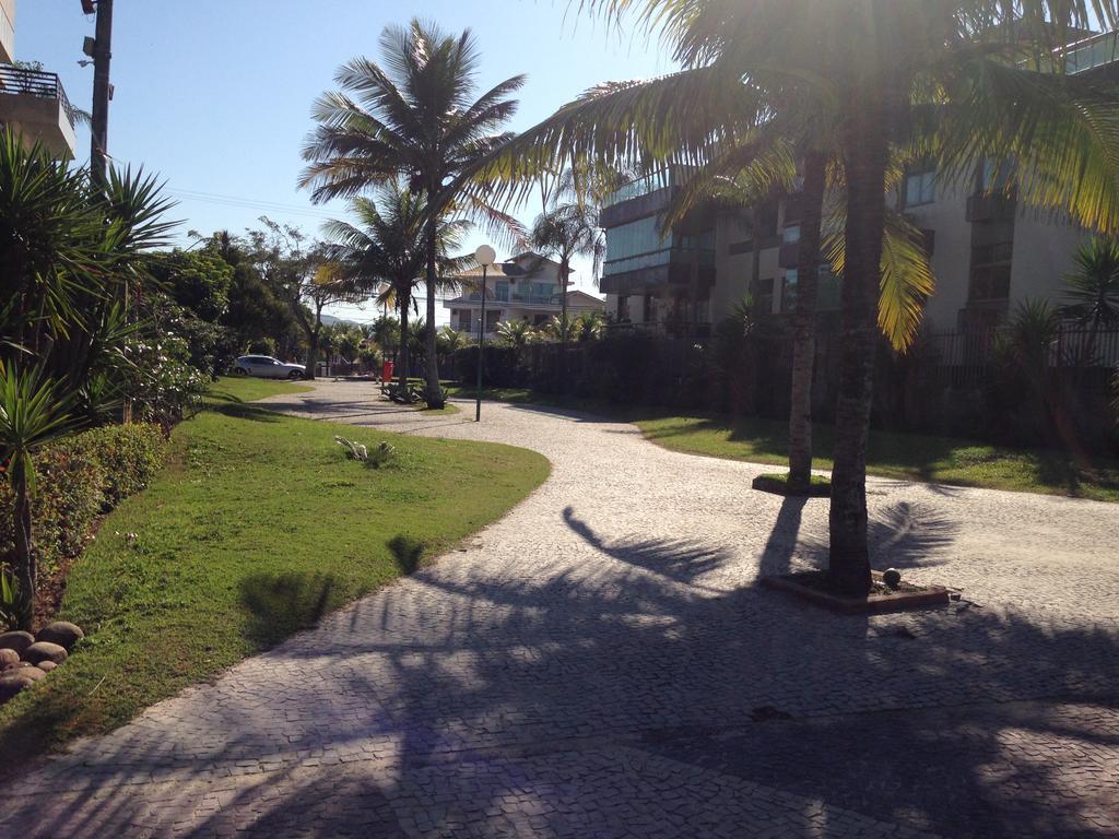
[[[568,270],[568,276],[571,271]],[[478,334],[481,318],[480,267],[462,272],[467,290],[443,303],[451,310],[451,327],[470,337]],[[524,320],[539,327],[562,311],[560,263],[535,253],[523,253],[505,264],[491,265],[486,280],[486,328],[491,336],[502,321]],[[605,304],[582,291],[567,292],[567,317],[601,312]]]

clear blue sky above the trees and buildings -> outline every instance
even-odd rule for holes
[[[333,87],[342,62],[375,58],[382,29],[413,16],[445,30],[474,30],[483,44],[482,87],[528,75],[513,130],[599,82],[671,69],[658,44],[608,31],[568,11],[566,0],[116,0],[110,153],[167,180],[180,202],[175,215],[185,220],[184,241],[188,229],[239,233],[265,214],[317,234],[344,207],[317,207],[295,188],[311,102]],[[86,110],[93,70],[77,60],[87,35],[93,18],[78,0],[17,3],[17,57],[58,73]],[[84,131],[79,143],[84,162]],[[527,206],[520,215],[528,221],[536,210]],[[468,247],[480,243],[474,237]],[[576,268],[576,287],[593,291],[589,266]]]

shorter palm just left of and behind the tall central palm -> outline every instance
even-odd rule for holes
[[[376,188],[375,197],[354,198],[349,205],[357,225],[332,220],[323,226],[333,243],[330,258],[339,265],[339,283],[349,294],[374,295],[377,303],[393,303],[399,312],[398,366],[399,387],[406,392],[408,376],[408,311],[415,301],[415,290],[422,282],[427,264],[427,205],[422,195],[410,192],[397,180]],[[461,219],[438,219],[435,254],[439,289],[453,287],[450,276],[459,261],[450,256],[458,248],[467,223]]]

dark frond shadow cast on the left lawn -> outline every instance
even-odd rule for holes
[[[332,574],[252,574],[241,581],[239,588],[241,602],[251,615],[245,632],[264,648],[317,626],[335,605]]]

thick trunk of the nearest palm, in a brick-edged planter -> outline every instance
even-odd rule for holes
[[[884,97],[866,92],[856,97],[844,138],[847,147],[846,261],[835,466],[828,516],[831,537],[828,573],[839,590],[855,596],[866,594],[872,583],[866,541],[866,440],[874,393],[888,129]]]

